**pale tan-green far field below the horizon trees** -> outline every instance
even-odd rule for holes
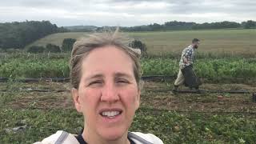
[[[46,46],[52,43],[62,45],[64,38],[86,37],[89,33],[59,33],[51,34],[30,44]],[[183,30],[166,32],[134,32],[126,33],[131,38],[146,43],[151,54],[164,52],[180,52],[188,46],[193,38],[201,40],[199,52],[230,52],[250,54],[256,53],[256,29],[252,30]],[[28,46],[27,46],[28,47]]]

